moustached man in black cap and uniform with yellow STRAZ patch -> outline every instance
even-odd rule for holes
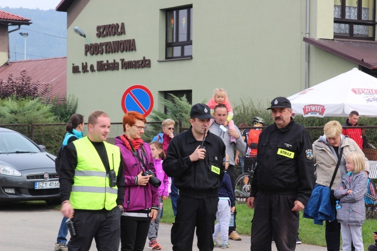
[[[299,211],[313,188],[312,140],[294,121],[291,101],[271,101],[274,123],[259,136],[257,165],[247,205],[254,208],[251,250],[270,250],[271,236],[277,250],[295,250]]]

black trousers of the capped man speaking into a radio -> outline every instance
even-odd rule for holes
[[[177,215],[171,227],[171,244],[174,251],[193,250],[195,227],[199,250],[213,250],[212,234],[215,230],[218,202],[218,197],[194,199],[179,195]]]

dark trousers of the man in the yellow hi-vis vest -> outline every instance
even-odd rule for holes
[[[98,250],[119,249],[121,210],[74,210],[73,224],[76,236],[71,236],[67,246],[70,251],[89,250],[93,238]]]

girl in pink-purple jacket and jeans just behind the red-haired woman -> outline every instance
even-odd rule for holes
[[[152,141],[151,143],[149,143],[149,146],[152,152],[153,164],[156,169],[155,175],[156,175],[156,178],[161,181],[161,185],[158,187],[159,206],[158,206],[157,216],[156,216],[156,219],[151,221],[149,225],[148,249],[160,250],[161,246],[158,244],[156,239],[157,239],[158,227],[160,225],[162,205],[163,205],[163,201],[167,200],[169,196],[171,179],[162,170],[162,160],[165,159],[166,157],[162,148],[162,144],[158,141]]]

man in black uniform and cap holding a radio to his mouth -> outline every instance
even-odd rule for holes
[[[190,116],[191,127],[170,141],[162,162],[163,170],[174,177],[179,189],[171,243],[173,250],[192,250],[196,227],[199,249],[212,250],[225,145],[208,130],[213,118],[210,107],[195,104]]]

